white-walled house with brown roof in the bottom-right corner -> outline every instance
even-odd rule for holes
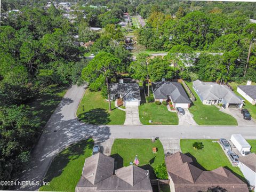
[[[239,164],[238,167],[244,174],[245,179],[249,183],[250,186],[255,191],[255,186],[256,186],[256,154],[251,153],[249,155],[245,155],[243,157],[239,157]]]

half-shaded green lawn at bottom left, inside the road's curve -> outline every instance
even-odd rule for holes
[[[61,151],[51,163],[44,178],[49,186],[40,191],[75,191],[81,178],[85,158],[92,155],[93,139],[84,140]]]

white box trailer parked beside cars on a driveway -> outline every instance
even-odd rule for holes
[[[241,153],[242,156],[251,153],[250,144],[242,137],[241,134],[231,135],[230,141],[234,144],[234,146],[237,148],[237,150],[239,151],[239,153]]]

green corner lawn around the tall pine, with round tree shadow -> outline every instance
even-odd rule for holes
[[[114,102],[111,102],[111,108],[112,110],[109,111],[108,102],[102,97],[100,92],[86,90],[76,114],[78,119],[85,123],[123,125],[125,111],[115,108]]]

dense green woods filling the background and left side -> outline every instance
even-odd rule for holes
[[[0,180],[12,179],[28,162],[43,130],[29,102],[48,85],[86,82],[107,98],[108,83],[124,74],[148,86],[162,78],[256,82],[256,24],[250,22],[256,3],[79,1],[74,22],[53,4],[44,9],[47,1],[1,3],[2,12],[20,12],[1,19]],[[125,46],[130,30],[118,25],[126,12],[147,19],[145,27],[133,31],[138,44],[167,51],[165,57],[141,53],[132,60]],[[90,41],[90,47],[76,44]],[[95,58],[85,59],[91,53]]]

